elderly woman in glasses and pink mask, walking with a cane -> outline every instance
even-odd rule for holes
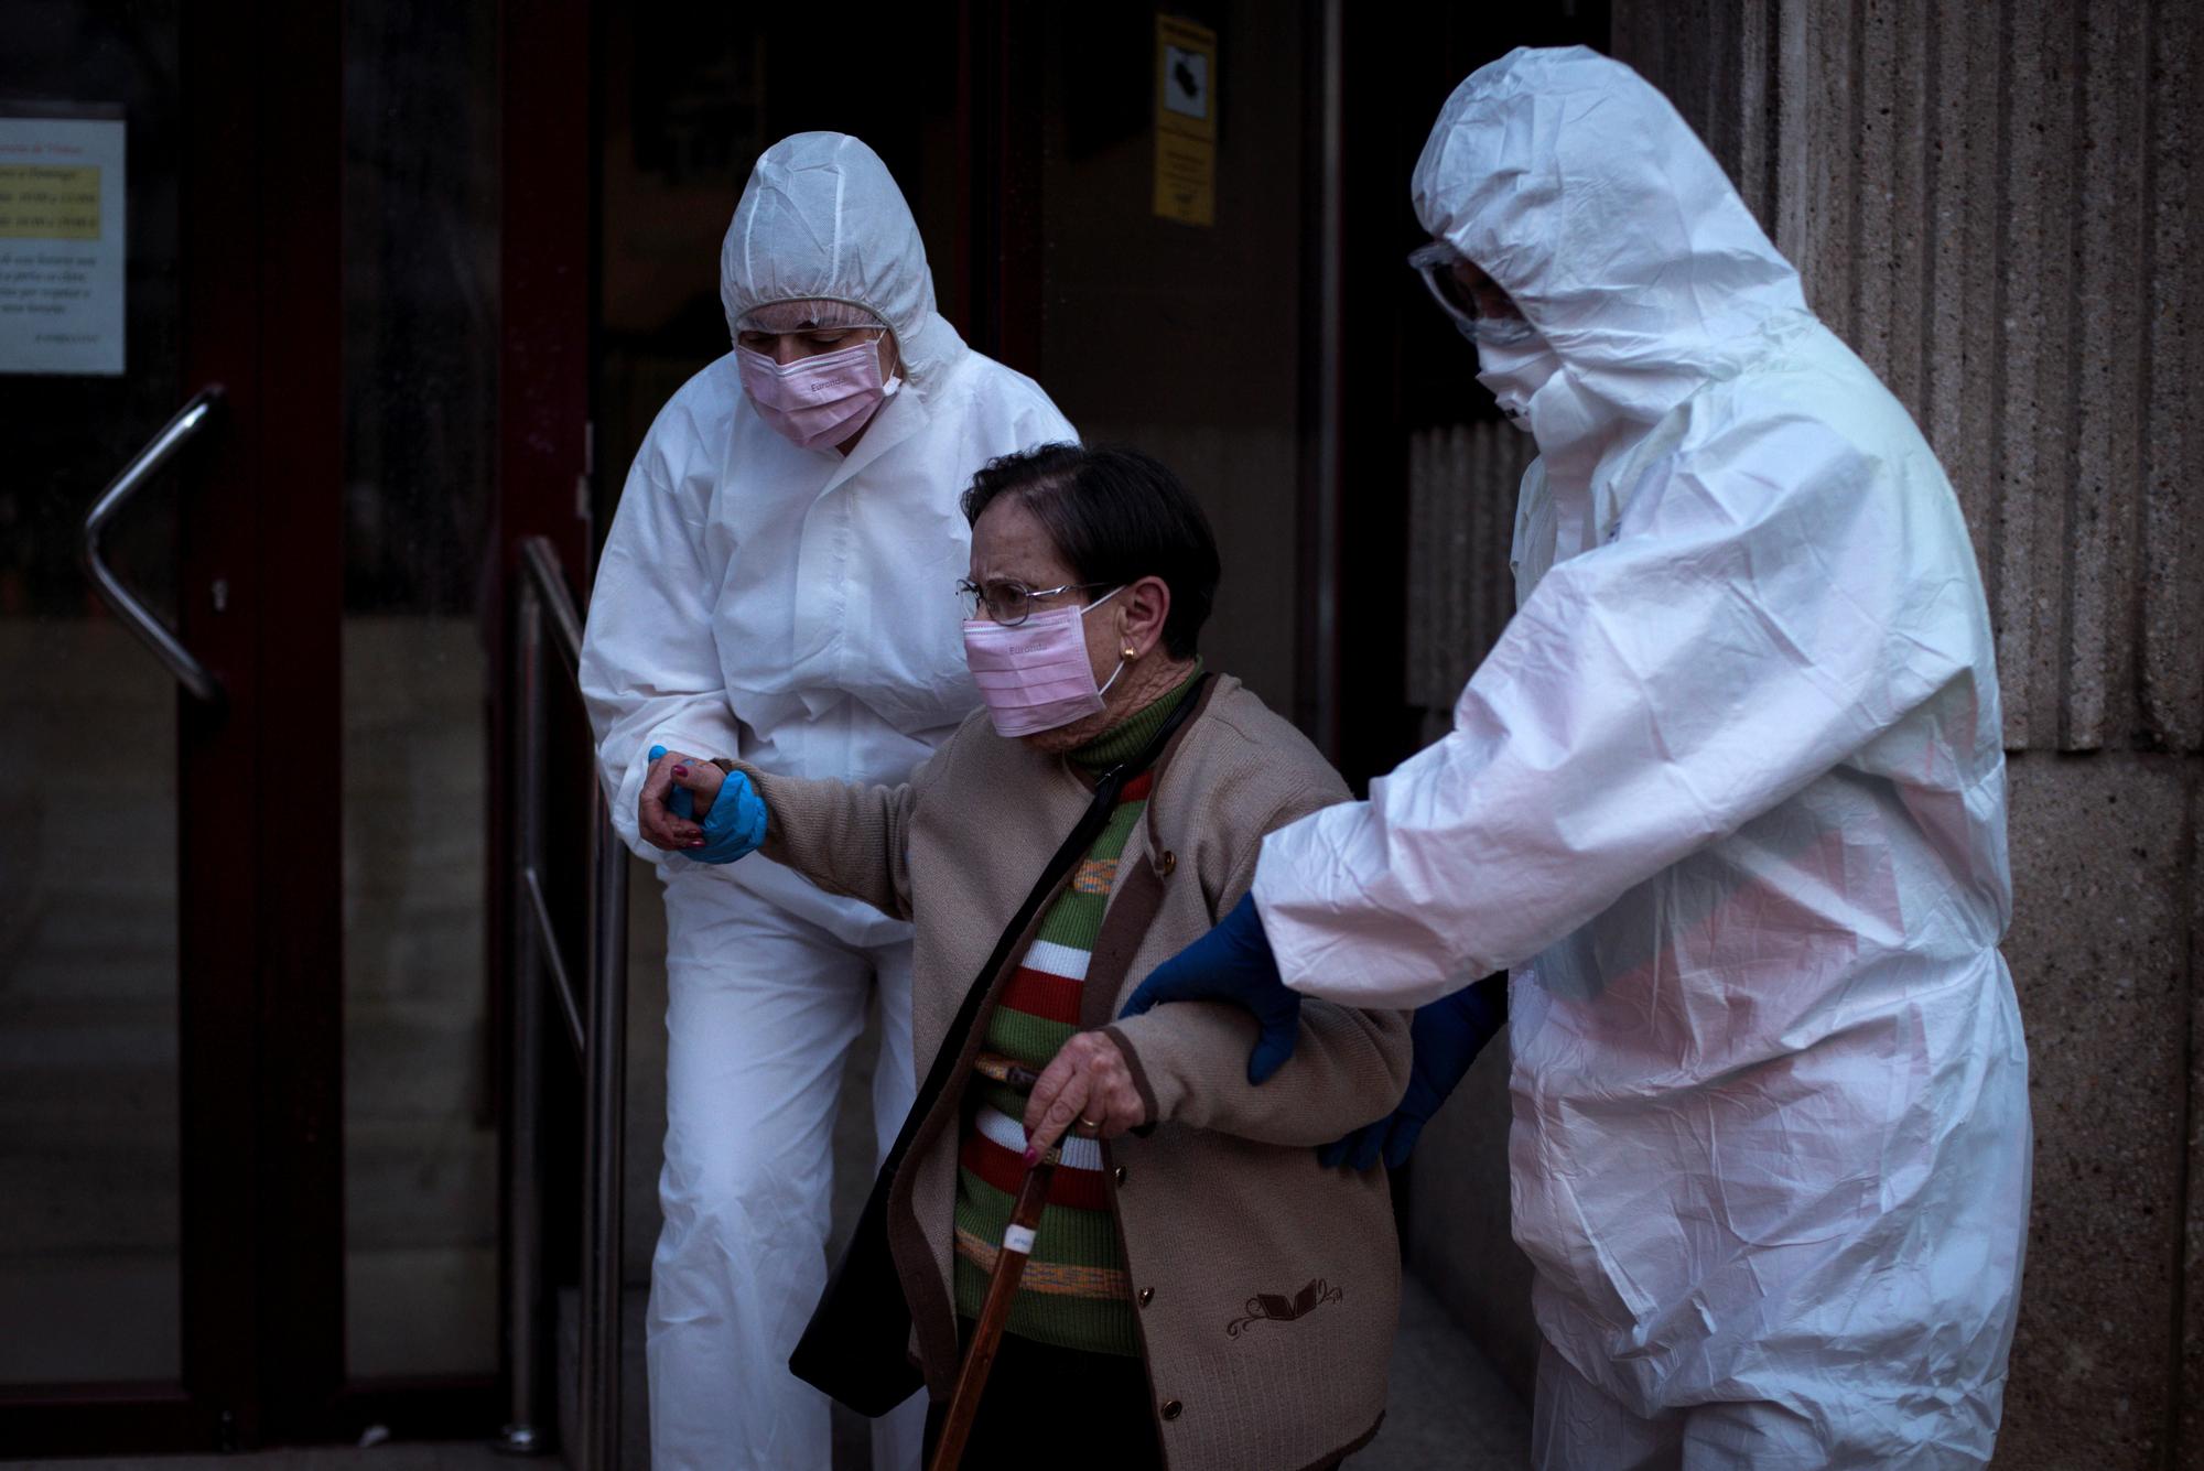
[[[1100,773],[1179,720],[981,978],[961,1086],[917,1123],[888,1200],[897,1275],[939,1409],[1012,1198],[1071,1125],[965,1464],[1076,1442],[1082,1464],[1329,1467],[1378,1429],[1400,1271],[1384,1174],[1325,1169],[1316,1145],[1400,1101],[1406,1017],[1309,1002],[1292,1061],[1256,1088],[1245,1011],[1117,1011],[1239,903],[1265,832],[1347,788],[1239,680],[1203,672],[1217,546],[1168,469],[1049,445],[994,460],[963,509],[965,656],[987,709],[910,782],[745,762],[668,775],[712,826],[915,923],[928,1059]]]

